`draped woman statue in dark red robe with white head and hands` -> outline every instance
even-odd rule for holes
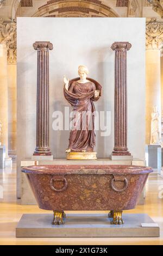
[[[64,78],[64,95],[71,104],[75,125],[70,132],[69,145],[66,153],[91,152],[95,147],[95,106],[101,95],[101,85],[91,78],[86,79],[88,70],[85,66],[79,66],[79,78],[70,82]],[[86,117],[87,115],[87,117]]]

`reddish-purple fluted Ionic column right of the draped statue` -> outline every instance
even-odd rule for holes
[[[130,156],[127,148],[127,51],[129,42],[114,42],[115,51],[115,102],[114,124],[115,137],[112,156]]]

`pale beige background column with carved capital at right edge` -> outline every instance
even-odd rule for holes
[[[163,23],[151,19],[146,24],[146,144],[151,139],[151,113],[156,106],[160,115],[161,134],[161,63]]]

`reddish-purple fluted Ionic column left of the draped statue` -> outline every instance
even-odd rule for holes
[[[52,155],[49,149],[49,50],[51,42],[35,42],[37,50],[36,148],[33,155]]]

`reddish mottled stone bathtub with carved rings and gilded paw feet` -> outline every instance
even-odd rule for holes
[[[46,165],[23,167],[39,208],[54,211],[64,224],[66,210],[110,210],[112,224],[134,209],[151,167],[124,165]]]

